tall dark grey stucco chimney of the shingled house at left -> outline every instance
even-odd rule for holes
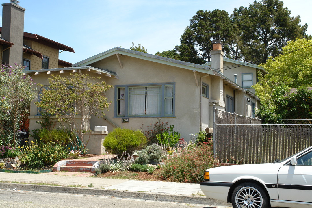
[[[22,64],[24,41],[24,12],[26,9],[18,5],[19,1],[11,0],[2,4],[2,38],[14,43],[3,51],[2,61],[13,66]],[[4,48],[5,49],[5,48]]]

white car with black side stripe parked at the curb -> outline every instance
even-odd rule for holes
[[[311,208],[312,147],[274,163],[207,169],[200,188],[234,208]]]

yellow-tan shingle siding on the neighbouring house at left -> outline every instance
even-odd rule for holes
[[[49,69],[58,68],[58,49],[29,40],[24,40],[24,44],[31,47],[33,50],[42,53],[42,56],[48,57]],[[31,70],[42,69],[42,59],[40,59],[39,57],[24,53],[23,58],[31,60]]]

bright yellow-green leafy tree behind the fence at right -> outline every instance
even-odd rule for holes
[[[294,116],[297,118],[309,117],[310,114],[300,110],[299,107],[297,109],[300,112],[305,112],[305,116],[297,116],[295,113],[286,114],[284,110],[289,106],[289,104],[286,105],[289,103],[287,99],[294,96],[291,94],[289,98],[285,98],[285,94],[289,92],[290,88],[310,87],[312,84],[311,46],[312,41],[306,39],[289,41],[288,45],[282,48],[282,55],[275,58],[271,57],[265,64],[260,65],[268,73],[264,76],[259,75],[259,82],[253,86],[256,89],[256,95],[261,99],[260,109],[256,112],[258,117],[264,120],[293,119]],[[294,105],[303,105],[299,101],[305,101],[306,94],[300,90],[297,95],[302,96],[302,98],[297,98]],[[310,105],[309,102],[305,103]]]

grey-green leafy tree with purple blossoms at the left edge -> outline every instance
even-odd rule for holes
[[[23,75],[21,65],[2,65],[0,71],[0,145],[16,145],[16,131],[28,116],[36,97],[31,77]]]

